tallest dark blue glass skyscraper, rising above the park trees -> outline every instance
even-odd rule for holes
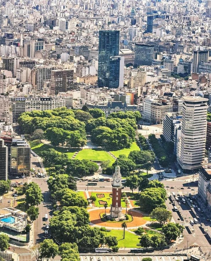
[[[114,75],[110,69],[120,70],[120,64],[112,56],[119,56],[120,31],[100,30],[99,32],[99,57],[98,57],[98,86],[118,88],[119,83],[113,83]],[[111,59],[112,57],[112,59]],[[111,87],[112,86],[112,87]]]

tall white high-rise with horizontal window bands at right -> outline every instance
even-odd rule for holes
[[[207,102],[202,97],[183,97],[179,165],[192,172],[203,165],[207,131]]]

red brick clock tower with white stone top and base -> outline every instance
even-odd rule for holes
[[[120,173],[120,166],[115,167],[112,183],[112,204],[111,204],[111,218],[120,218],[122,216],[121,195],[122,195],[122,176]]]

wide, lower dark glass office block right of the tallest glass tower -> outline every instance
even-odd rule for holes
[[[154,45],[135,44],[135,66],[152,65],[155,58]]]

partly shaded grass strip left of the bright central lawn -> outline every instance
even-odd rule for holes
[[[74,153],[77,151],[76,148],[62,148],[62,147],[51,146],[48,144],[43,144],[38,139],[30,141],[29,144],[31,146],[32,151],[34,151],[39,156],[42,151],[46,151],[49,148],[54,148],[58,152],[66,153],[68,158],[70,159],[74,155]],[[67,152],[67,150],[68,150],[68,152]]]

